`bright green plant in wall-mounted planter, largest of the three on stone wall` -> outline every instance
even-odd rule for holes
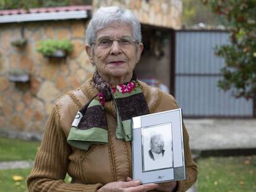
[[[46,40],[39,43],[36,51],[45,57],[65,57],[72,52],[73,44],[69,40]]]

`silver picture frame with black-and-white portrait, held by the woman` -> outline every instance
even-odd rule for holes
[[[132,118],[132,164],[142,183],[186,179],[181,109]]]

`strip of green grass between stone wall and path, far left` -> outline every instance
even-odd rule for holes
[[[33,160],[39,146],[39,141],[0,138],[0,161]]]

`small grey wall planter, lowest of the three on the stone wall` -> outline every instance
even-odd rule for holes
[[[25,69],[11,69],[9,71],[9,81],[11,82],[27,82],[30,80],[29,72]]]

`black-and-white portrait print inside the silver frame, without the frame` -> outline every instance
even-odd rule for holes
[[[173,167],[171,123],[142,129],[143,171]]]

